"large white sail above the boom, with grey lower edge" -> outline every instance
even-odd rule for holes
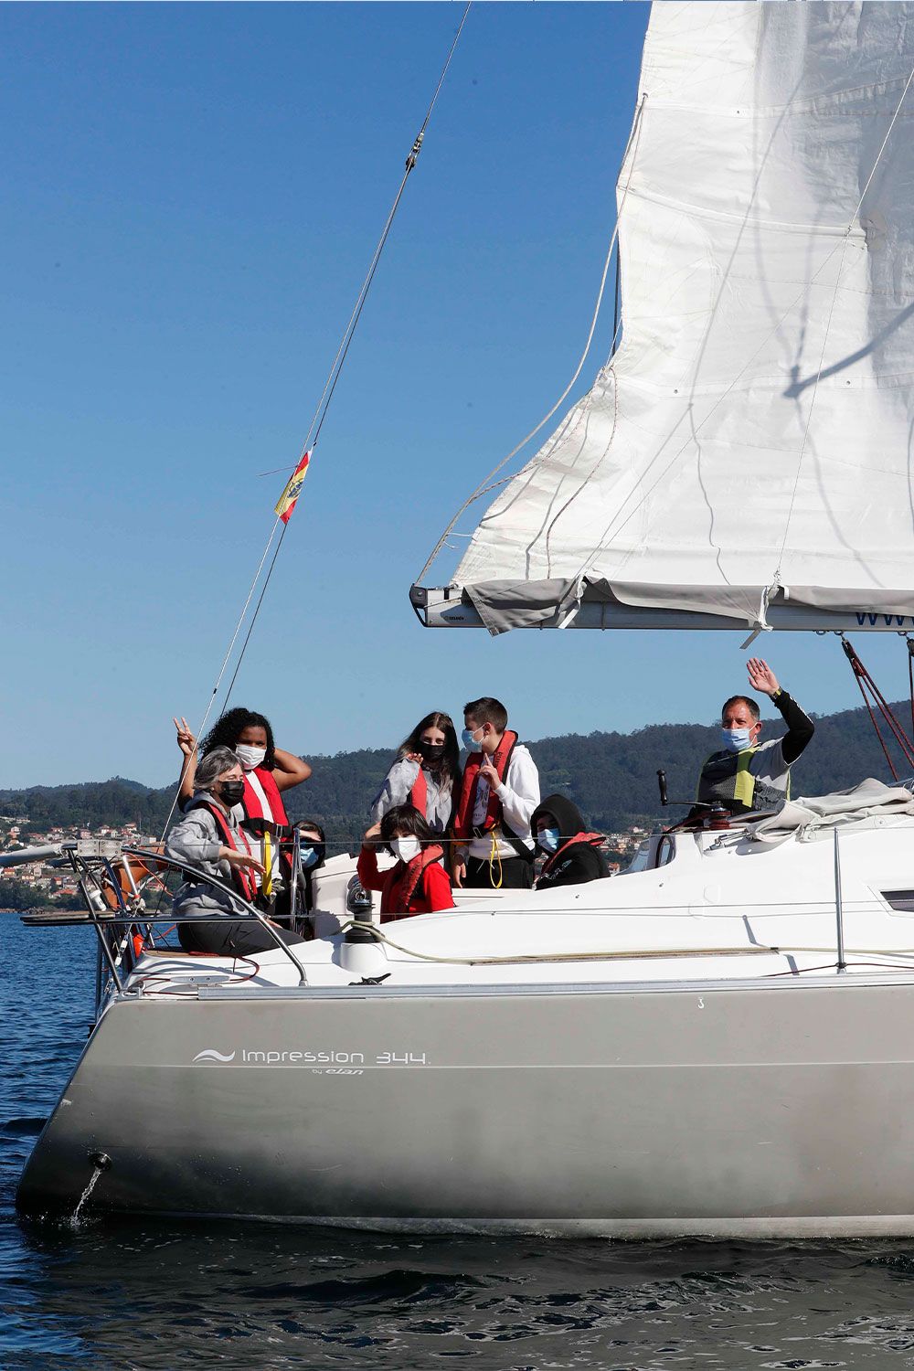
[[[914,614],[913,69],[911,4],[654,5],[622,345],[471,537],[491,632]]]

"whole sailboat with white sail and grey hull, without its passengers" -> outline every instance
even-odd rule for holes
[[[914,5],[654,7],[622,343],[412,588],[426,624],[914,627],[913,77]],[[910,791],[866,781],[393,925],[338,857],[251,968],[143,936],[156,854],[60,847],[96,1024],[19,1205],[914,1235],[913,853]]]

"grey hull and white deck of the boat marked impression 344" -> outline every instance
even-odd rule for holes
[[[396,946],[328,912],[306,984],[281,951],[249,980],[144,957],[19,1204],[71,1212],[104,1154],[95,1212],[911,1237],[913,839],[903,813],[843,832],[843,972],[830,835],[743,829],[654,839],[671,860],[589,886],[467,893],[384,925]]]

